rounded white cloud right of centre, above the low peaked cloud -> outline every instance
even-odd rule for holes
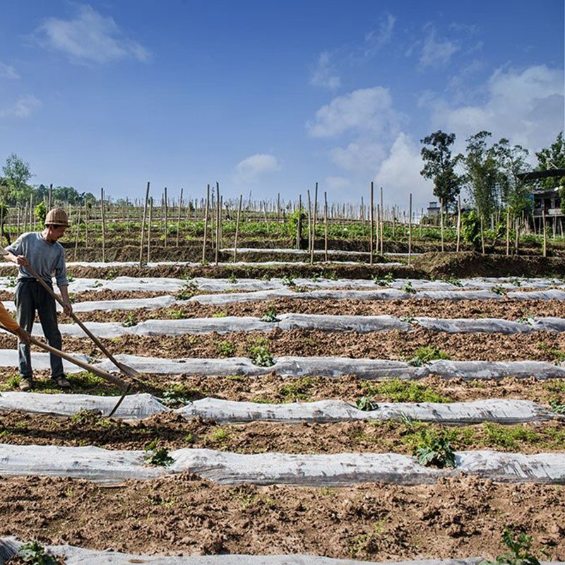
[[[388,89],[375,86],[334,98],[306,127],[312,137],[333,137],[348,130],[378,134],[399,121],[402,116],[393,111]]]

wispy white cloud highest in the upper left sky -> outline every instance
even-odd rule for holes
[[[45,47],[63,52],[73,62],[150,59],[148,50],[124,37],[112,17],[102,16],[88,5],[81,6],[73,20],[48,18],[36,32]]]

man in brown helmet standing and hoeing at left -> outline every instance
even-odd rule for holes
[[[18,324],[31,333],[37,311],[47,342],[59,350],[62,340],[59,326],[57,326],[55,301],[26,267],[31,266],[49,286],[52,286],[52,276],[53,273],[55,274],[63,299],[64,312],[70,316],[73,308],[69,300],[65,250],[57,242],[64,235],[68,226],[69,218],[65,210],[53,208],[45,217],[45,229],[42,232],[28,232],[20,235],[16,242],[6,247],[7,253],[4,256],[7,261],[12,261],[19,266],[16,283],[16,320]],[[49,358],[51,378],[61,388],[69,388],[71,383],[66,380],[61,358],[53,353]],[[29,391],[33,386],[30,345],[21,338],[18,343],[18,365],[21,376],[20,389]]]

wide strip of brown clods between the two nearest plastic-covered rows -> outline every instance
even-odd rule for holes
[[[504,525],[565,559],[564,487],[475,477],[402,487],[225,487],[191,475],[105,488],[2,480],[0,535],[142,554],[316,554],[371,561],[504,552]],[[321,533],[323,533],[321,535]],[[433,540],[433,542],[431,542]]]

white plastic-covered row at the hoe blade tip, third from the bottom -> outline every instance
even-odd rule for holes
[[[0,410],[17,410],[43,414],[71,416],[79,410],[96,410],[109,415],[117,397],[84,394],[40,394],[4,392]],[[126,396],[114,417],[143,420],[160,412],[170,412],[167,406],[150,394]],[[554,415],[528,400],[475,400],[464,403],[378,403],[375,410],[357,410],[343,400],[321,400],[309,403],[265,404],[234,402],[218,398],[203,398],[174,410],[186,420],[202,417],[216,422],[349,422],[352,420],[399,420],[408,417],[422,422],[441,424],[475,424],[497,422],[542,422]]]

